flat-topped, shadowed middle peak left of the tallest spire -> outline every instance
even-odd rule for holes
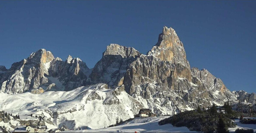
[[[140,55],[134,48],[110,44],[92,69],[87,83],[107,83],[111,87],[122,85],[128,66]]]

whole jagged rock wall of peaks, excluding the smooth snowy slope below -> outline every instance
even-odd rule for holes
[[[237,99],[206,69],[190,68],[183,43],[175,30],[166,26],[146,55],[110,44],[102,59],[89,69],[79,58],[69,55],[62,61],[42,49],[8,70],[1,66],[0,75],[1,91],[8,94],[69,91],[97,83],[123,86],[142,108],[151,108],[158,115]],[[91,98],[97,98],[94,95]]]

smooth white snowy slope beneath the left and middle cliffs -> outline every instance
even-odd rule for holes
[[[109,89],[106,84],[96,84],[68,92],[1,93],[0,108],[19,114],[23,120],[35,120],[29,116],[32,113],[45,116],[54,126],[95,129],[115,124],[116,119],[133,118],[141,105],[124,91],[124,86]]]

